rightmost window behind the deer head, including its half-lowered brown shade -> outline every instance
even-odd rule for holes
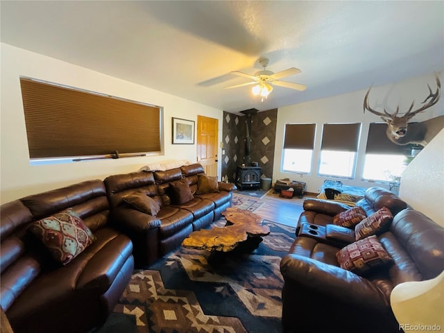
[[[391,182],[399,180],[411,155],[411,145],[400,146],[386,136],[386,123],[370,123],[363,178]]]

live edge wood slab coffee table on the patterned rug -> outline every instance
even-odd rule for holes
[[[212,254],[246,252],[257,248],[262,237],[270,234],[270,228],[262,225],[262,217],[249,210],[230,207],[222,215],[227,220],[224,227],[191,232],[182,246],[207,250]]]

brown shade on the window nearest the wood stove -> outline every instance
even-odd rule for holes
[[[285,124],[284,149],[310,149],[314,147],[316,123]]]

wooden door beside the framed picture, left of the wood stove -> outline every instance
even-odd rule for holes
[[[197,162],[208,176],[217,176],[219,120],[197,116]]]

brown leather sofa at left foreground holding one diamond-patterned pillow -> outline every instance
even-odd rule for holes
[[[71,208],[96,240],[62,266],[28,232],[34,221]],[[87,332],[105,322],[134,270],[133,244],[110,226],[102,180],[1,205],[0,306],[20,332]]]

